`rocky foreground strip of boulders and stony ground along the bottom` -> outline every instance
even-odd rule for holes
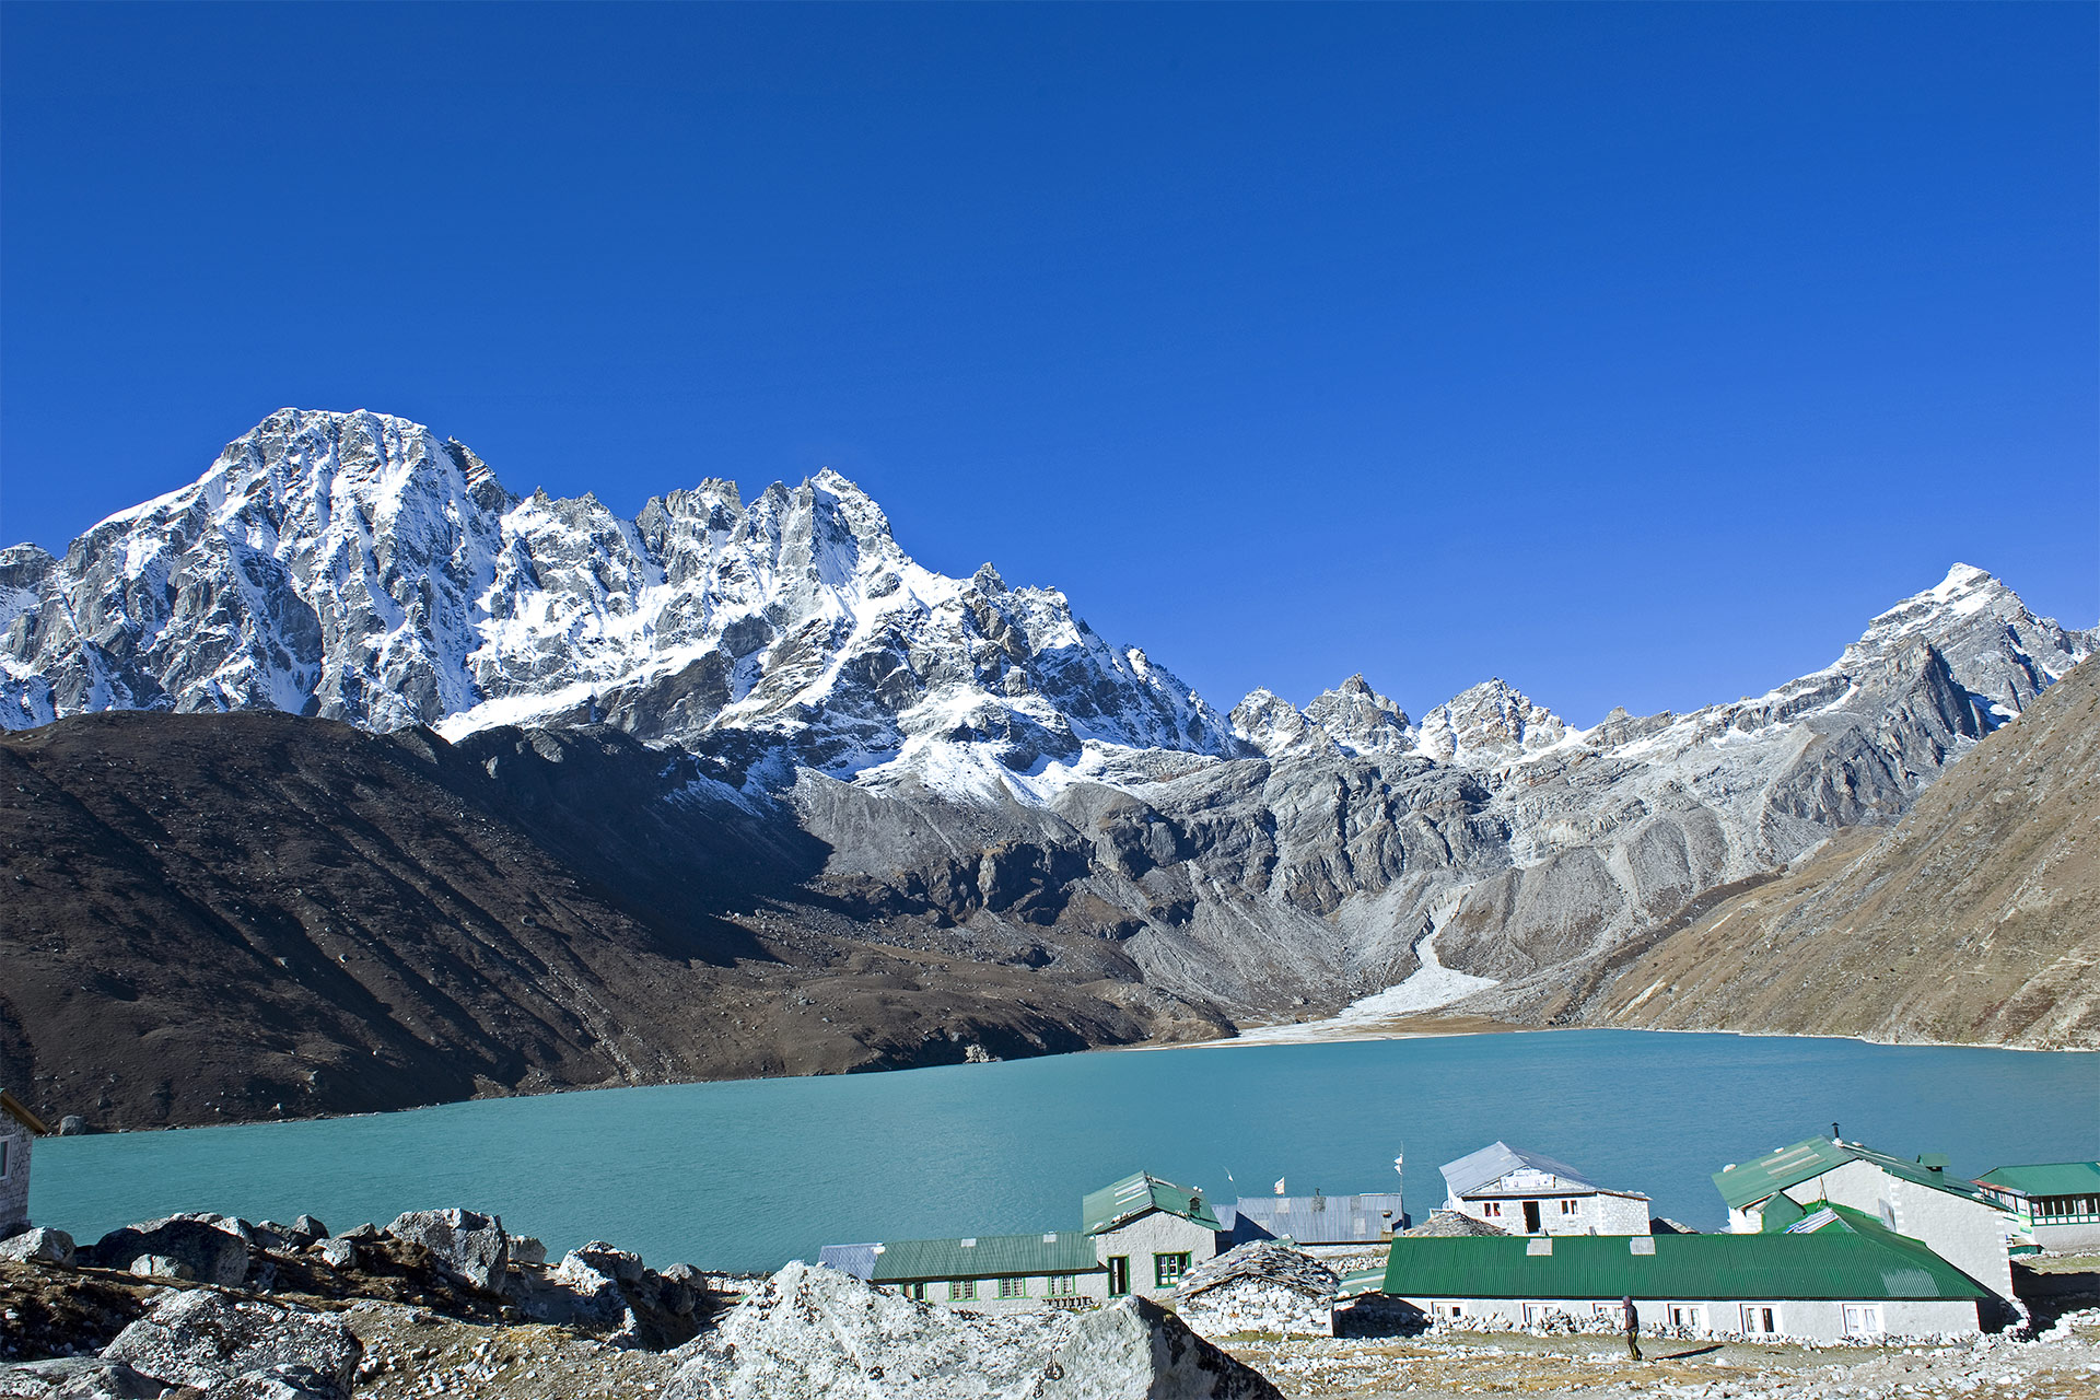
[[[1302,1255],[1283,1264],[1279,1287],[1319,1268]],[[548,1266],[536,1240],[472,1211],[412,1211],[344,1234],[311,1217],[178,1215],[82,1249],[57,1230],[0,1243],[0,1398],[2073,1400],[2100,1394],[2100,1308],[2062,1310],[2094,1301],[2077,1293],[2090,1276],[2056,1289],[2060,1306],[2037,1310],[2033,1337],[1882,1348],[1651,1337],[1634,1362],[1617,1337],[1287,1335],[1144,1299],[979,1316],[825,1268],[653,1270],[603,1243]]]

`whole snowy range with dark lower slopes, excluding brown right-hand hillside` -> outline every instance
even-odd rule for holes
[[[1424,951],[1491,982],[1449,1012],[1564,1018],[2096,640],[1957,565],[1684,716],[1361,676],[1222,716],[830,472],[628,521],[286,409],[0,550],[0,1079],[197,1121],[914,1064],[1306,1018]]]

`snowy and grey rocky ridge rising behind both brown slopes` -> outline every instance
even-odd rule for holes
[[[832,472],[624,521],[292,409],[63,560],[4,552],[0,625],[6,726],[603,724],[691,758],[662,800],[813,840],[804,888],[874,940],[1102,938],[1235,1020],[1399,982],[1432,934],[1495,980],[1468,1007],[1537,1016],[1571,963],[1900,816],[2100,640],[1955,567],[1829,667],[1686,716],[1579,730],[1489,680],[1415,722],[1361,678],[1220,716],[1054,590],[920,569]]]

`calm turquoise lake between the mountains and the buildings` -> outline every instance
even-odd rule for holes
[[[1890,1152],[1997,1165],[2100,1157],[2100,1056],[1648,1031],[1113,1052],[834,1079],[447,1104],[36,1148],[32,1215],[84,1240],[172,1211],[336,1230],[496,1211],[550,1253],[769,1270],[819,1245],[1079,1226],[1138,1169],[1216,1199],[1390,1190],[1502,1138],[1701,1230],[1709,1173],[1831,1121]]]

